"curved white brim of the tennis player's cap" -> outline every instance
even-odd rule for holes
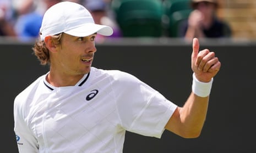
[[[113,34],[113,29],[110,26],[88,23],[77,28],[74,28],[72,30],[63,32],[75,37],[86,37],[94,33],[99,33],[103,36],[111,36]]]

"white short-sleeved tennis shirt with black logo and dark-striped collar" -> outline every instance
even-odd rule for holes
[[[91,67],[75,86],[58,88],[46,75],[14,100],[20,153],[121,153],[126,131],[160,138],[177,107],[122,71]]]

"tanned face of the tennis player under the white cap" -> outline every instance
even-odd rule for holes
[[[57,46],[57,52],[53,53],[51,66],[68,75],[88,73],[96,52],[95,37],[96,34],[87,37],[74,37],[63,33],[61,44]]]

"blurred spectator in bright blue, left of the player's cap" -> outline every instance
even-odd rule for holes
[[[59,2],[61,0],[41,0],[41,3],[37,3],[38,9],[20,15],[15,24],[15,31],[20,41],[34,41],[39,36],[43,14],[48,8]]]

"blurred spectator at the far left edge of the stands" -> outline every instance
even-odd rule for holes
[[[0,36],[14,37],[13,10],[9,0],[0,0]]]

